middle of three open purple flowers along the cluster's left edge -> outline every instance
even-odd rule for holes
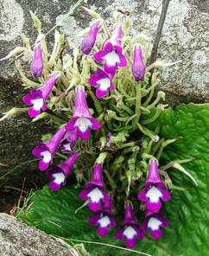
[[[41,158],[39,161],[39,170],[48,169],[49,164],[52,163],[54,154],[60,146],[60,142],[66,133],[65,127],[60,128],[55,132],[54,136],[44,143],[39,143],[32,150],[35,157]]]

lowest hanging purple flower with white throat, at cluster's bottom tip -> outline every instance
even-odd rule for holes
[[[144,233],[138,226],[133,208],[130,203],[127,203],[125,206],[124,221],[122,223],[122,228],[117,231],[115,237],[118,240],[125,240],[125,245],[127,247],[133,248],[136,245],[136,239],[141,240],[144,236]]]

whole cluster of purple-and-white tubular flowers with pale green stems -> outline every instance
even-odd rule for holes
[[[80,51],[74,48],[73,56],[60,54],[64,36],[58,31],[49,56],[41,22],[32,16],[39,31],[30,65],[33,80],[26,77],[20,63],[16,65],[23,85],[30,89],[23,102],[33,121],[47,118],[57,128],[32,153],[38,158],[39,170],[48,176],[51,190],[64,186],[74,170],[78,187],[83,186],[79,198],[92,211],[88,222],[98,228],[99,235],[117,227],[117,215],[124,214],[115,238],[132,248],[146,231],[157,240],[168,226],[160,211],[162,202],[171,198],[168,188],[173,185],[166,170],[174,167],[174,161],[159,170],[158,160],[176,139],[160,139],[158,127],[149,130],[148,125],[166,106],[159,104],[165,93],[154,96],[158,80],[155,72],[149,72],[155,63],[146,67],[147,38],[138,35],[132,39],[127,34],[129,17],[125,22],[116,17],[110,33],[98,14],[87,11],[94,19]],[[28,39],[25,44],[31,53]],[[65,160],[57,163],[60,157]]]

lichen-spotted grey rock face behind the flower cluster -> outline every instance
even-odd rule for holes
[[[51,29],[67,13],[72,0],[29,1],[0,0],[0,57],[3,57],[16,45],[21,45],[20,33],[34,36],[28,10],[41,17],[44,31]],[[86,2],[86,1],[85,1]],[[94,0],[87,1],[87,7],[97,10],[108,17],[114,10],[126,10],[131,16],[131,33],[139,32],[150,37],[153,42],[157,22],[161,15],[161,0]],[[161,72],[161,86],[173,103],[205,102],[209,99],[209,0],[172,0],[168,6],[168,15],[162,30],[158,57],[163,61],[181,61],[174,67]],[[62,22],[69,46],[78,45],[77,36],[84,28],[89,16],[83,10],[77,10],[74,16]],[[109,20],[111,24],[111,20]],[[54,42],[53,33],[48,43]],[[12,106],[22,106],[22,88],[14,63],[0,63],[0,113]],[[30,125],[28,118],[13,118],[0,124],[0,163],[9,167],[28,157],[28,151],[41,131],[48,130],[42,124]],[[27,150],[25,145],[27,144]],[[25,155],[25,157],[24,157]],[[0,167],[1,168],[1,167]],[[1,168],[5,171],[5,168]],[[0,171],[1,172],[1,171]]]

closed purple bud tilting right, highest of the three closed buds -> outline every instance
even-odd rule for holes
[[[100,21],[93,22],[88,35],[86,35],[83,41],[81,42],[80,48],[83,54],[90,54],[90,52],[92,51],[94,43],[96,42],[96,39],[97,39],[100,23],[101,23]]]

